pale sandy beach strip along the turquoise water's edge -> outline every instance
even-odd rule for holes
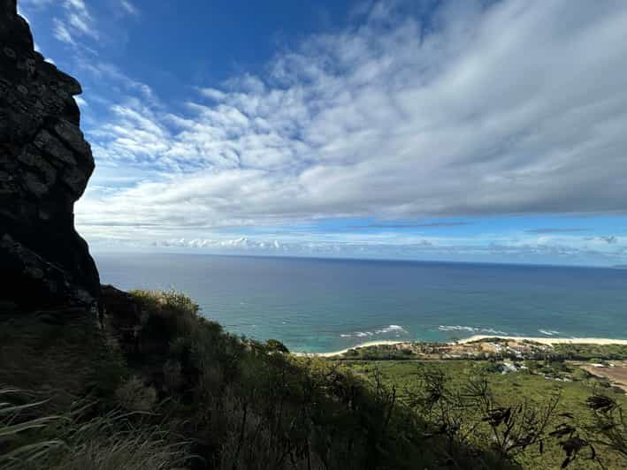
[[[474,341],[481,341],[482,339],[488,339],[498,337],[499,339],[511,339],[515,341],[533,341],[540,345],[627,345],[627,339],[612,339],[610,337],[511,337],[500,335],[473,335],[457,341],[456,344],[464,345],[472,343]],[[380,346],[380,345],[407,345],[411,343],[419,343],[420,340],[406,340],[397,341],[394,339],[381,340],[381,341],[367,341],[359,345],[340,349],[340,351],[331,352],[293,352],[295,356],[301,357],[318,357],[318,358],[330,358],[333,356],[340,356],[351,349],[357,349],[361,347]],[[443,341],[441,344],[455,345],[453,341]]]

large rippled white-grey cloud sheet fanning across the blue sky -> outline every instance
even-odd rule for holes
[[[89,133],[98,165],[146,176],[89,191],[77,217],[160,224],[168,239],[173,226],[627,210],[627,4],[449,2],[426,18],[398,5],[372,4],[267,74],[190,91],[183,110],[96,65],[126,94]]]

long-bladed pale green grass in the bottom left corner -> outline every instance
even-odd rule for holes
[[[154,414],[113,411],[88,418],[90,405],[37,416],[45,400],[0,390],[0,468],[7,470],[147,470],[182,466],[187,443],[172,439]]]

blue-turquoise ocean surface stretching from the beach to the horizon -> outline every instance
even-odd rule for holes
[[[96,254],[103,284],[187,293],[226,330],[294,352],[475,334],[627,339],[627,269]]]

